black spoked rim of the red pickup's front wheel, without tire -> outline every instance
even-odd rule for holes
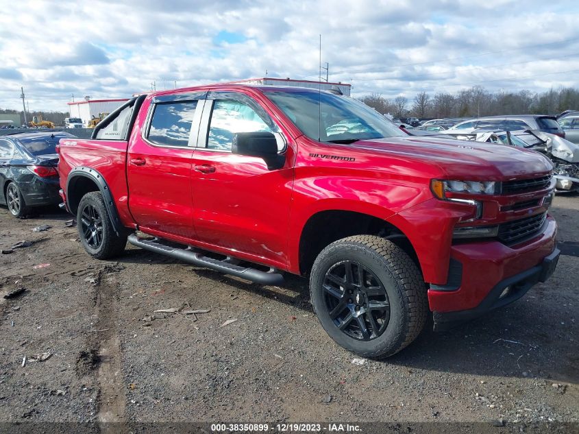
[[[380,279],[356,261],[338,262],[323,280],[325,308],[343,333],[360,341],[380,337],[390,320],[390,302]]]

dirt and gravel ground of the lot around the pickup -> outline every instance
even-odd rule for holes
[[[571,243],[546,284],[356,365],[305,279],[262,287],[136,248],[99,262],[69,215],[0,208],[0,248],[34,241],[0,255],[1,296],[27,289],[0,297],[0,422],[579,422],[579,197],[557,197],[553,214]],[[153,313],[171,308],[210,312]]]

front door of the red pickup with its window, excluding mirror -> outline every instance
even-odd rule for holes
[[[284,142],[282,169],[262,158],[232,154],[236,132],[280,128],[251,97],[208,94],[193,152],[191,190],[197,239],[286,267],[287,229],[293,186],[293,147]],[[286,135],[287,136],[287,135]]]

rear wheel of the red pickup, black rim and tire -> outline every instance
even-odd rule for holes
[[[99,191],[86,193],[77,210],[77,227],[84,250],[97,259],[119,256],[125,251],[127,234],[116,234]]]

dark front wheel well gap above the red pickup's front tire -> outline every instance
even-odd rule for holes
[[[321,211],[312,215],[299,239],[299,270],[310,272],[318,254],[329,244],[352,235],[376,235],[390,239],[402,248],[421,269],[418,256],[406,235],[387,221],[362,213],[344,210]]]

